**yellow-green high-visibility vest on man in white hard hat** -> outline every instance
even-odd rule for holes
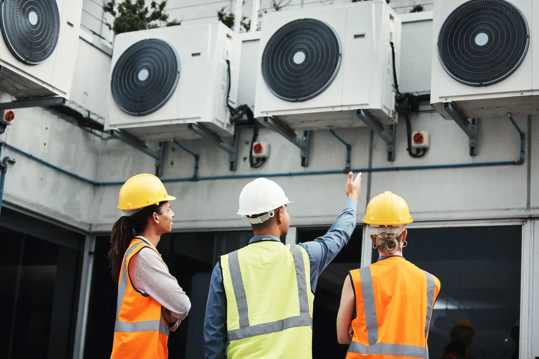
[[[312,359],[314,294],[299,245],[251,243],[221,257],[228,359]]]

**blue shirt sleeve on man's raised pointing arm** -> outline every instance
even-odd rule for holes
[[[314,241],[299,243],[309,255],[310,287],[313,292],[316,290],[316,284],[322,271],[350,240],[350,236],[356,228],[356,208],[357,202],[349,199],[325,235]]]

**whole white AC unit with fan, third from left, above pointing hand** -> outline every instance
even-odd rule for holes
[[[397,121],[400,20],[385,1],[264,15],[254,115],[291,129],[354,127],[363,110]]]

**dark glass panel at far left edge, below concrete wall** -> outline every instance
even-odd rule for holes
[[[72,356],[83,237],[48,241],[50,231],[37,238],[5,227],[0,234],[0,357]]]

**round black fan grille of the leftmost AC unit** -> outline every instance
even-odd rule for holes
[[[58,44],[60,14],[56,0],[3,0],[0,27],[13,56],[27,65],[41,64]]]

